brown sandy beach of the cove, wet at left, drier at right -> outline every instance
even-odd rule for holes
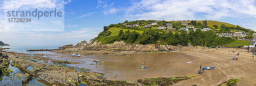
[[[238,85],[256,85],[256,59],[252,59],[252,53],[247,50],[226,48],[221,50],[184,50],[173,53],[151,53],[133,55],[82,55],[81,58],[73,58],[81,64],[70,66],[92,69],[93,72],[106,74],[104,77],[110,80],[137,80],[143,78],[170,78],[187,75],[197,75],[196,78],[181,81],[175,85],[183,86],[216,86],[231,78],[238,78]],[[228,51],[230,50],[230,52]],[[235,50],[236,53],[232,53]],[[236,55],[237,53],[240,55]],[[239,60],[232,60],[236,55]],[[71,60],[71,55],[64,58]],[[101,65],[90,65],[92,60],[105,61]],[[61,58],[59,58],[61,60]],[[63,59],[62,59],[63,60]],[[195,61],[185,64],[187,61]],[[139,65],[145,63],[148,69],[140,69]],[[216,67],[205,70],[204,74],[198,74],[200,67]]]

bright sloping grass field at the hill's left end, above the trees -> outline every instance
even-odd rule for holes
[[[121,28],[109,28],[108,31],[111,31],[111,35],[110,36],[115,36],[115,35],[118,35],[119,31],[121,30]],[[128,31],[130,29],[122,29],[124,32],[125,31]],[[143,31],[140,31],[140,30],[130,30],[131,31],[136,31],[138,33],[143,33]]]

